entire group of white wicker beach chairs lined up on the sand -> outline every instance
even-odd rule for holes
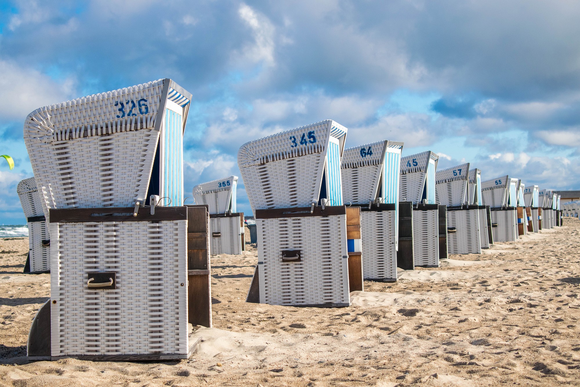
[[[25,271],[51,276],[31,359],[184,359],[193,325],[211,327],[209,257],[244,253],[244,214],[234,175],[184,204],[190,102],[162,79],[28,115]],[[325,120],[238,151],[258,236],[248,302],[348,306],[364,279],[397,281],[397,267],[438,267],[559,225],[552,191],[482,182],[469,163],[437,171],[436,153],[401,157],[403,142],[345,149],[346,136]]]

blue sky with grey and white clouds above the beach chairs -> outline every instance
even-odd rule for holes
[[[244,142],[324,119],[347,146],[404,141],[440,168],[580,189],[578,20],[574,1],[0,0],[0,154],[16,162],[0,224],[25,223],[28,113],[158,78],[193,93],[186,193],[240,175]]]

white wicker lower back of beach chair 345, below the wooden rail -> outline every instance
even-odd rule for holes
[[[260,303],[350,305],[346,215],[256,219]],[[300,250],[282,262],[282,250]]]

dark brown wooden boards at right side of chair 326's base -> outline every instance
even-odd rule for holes
[[[187,316],[190,324],[212,326],[207,206],[187,206]]]

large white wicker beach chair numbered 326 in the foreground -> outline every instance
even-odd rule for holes
[[[51,240],[30,359],[186,359],[199,341],[188,323],[211,327],[209,216],[183,206],[190,101],[164,79],[28,115]]]

